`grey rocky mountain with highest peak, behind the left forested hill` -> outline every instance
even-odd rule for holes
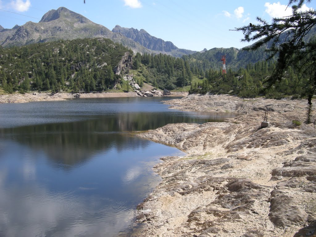
[[[107,38],[116,43],[122,43],[134,52],[151,53],[137,42],[121,34],[113,33],[108,28],[65,7],[48,11],[38,23],[28,21],[22,26],[0,31],[0,44],[3,47],[83,38]]]

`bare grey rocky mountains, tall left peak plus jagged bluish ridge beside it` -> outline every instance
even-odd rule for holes
[[[0,45],[3,47],[22,46],[56,40],[73,40],[82,38],[107,38],[131,48],[134,52],[165,53],[175,57],[191,54],[195,51],[179,49],[170,41],[151,36],[145,30],[129,29],[116,26],[109,30],[88,18],[60,7],[50,10],[38,22],[28,21],[23,26],[12,29],[0,26]]]

